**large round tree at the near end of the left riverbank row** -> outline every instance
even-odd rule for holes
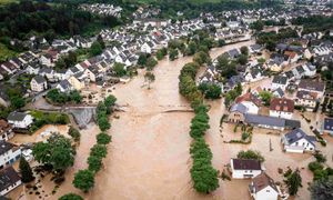
[[[93,172],[90,170],[79,170],[74,174],[73,186],[83,192],[88,192],[94,186]]]

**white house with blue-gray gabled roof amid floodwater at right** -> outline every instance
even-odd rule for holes
[[[284,134],[281,141],[286,152],[303,153],[305,151],[313,152],[315,150],[316,138],[314,136],[307,136],[301,129],[294,129]]]

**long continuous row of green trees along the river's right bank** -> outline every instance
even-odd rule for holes
[[[194,109],[195,116],[191,120],[190,136],[193,142],[190,147],[193,160],[190,170],[193,188],[201,193],[210,193],[219,188],[219,171],[212,166],[212,152],[205,143],[203,136],[210,128],[208,107],[203,104],[203,94],[195,84],[195,76],[201,64],[210,62],[206,52],[200,51],[194,54],[194,62],[186,63],[179,76],[179,90]]]

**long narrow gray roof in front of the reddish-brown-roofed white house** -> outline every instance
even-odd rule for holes
[[[245,121],[251,124],[263,124],[263,126],[281,127],[281,128],[285,126],[284,119],[274,118],[270,116],[245,114]]]

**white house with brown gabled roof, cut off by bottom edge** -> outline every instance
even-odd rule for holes
[[[249,190],[254,200],[278,200],[280,196],[279,187],[265,172],[252,179]]]

